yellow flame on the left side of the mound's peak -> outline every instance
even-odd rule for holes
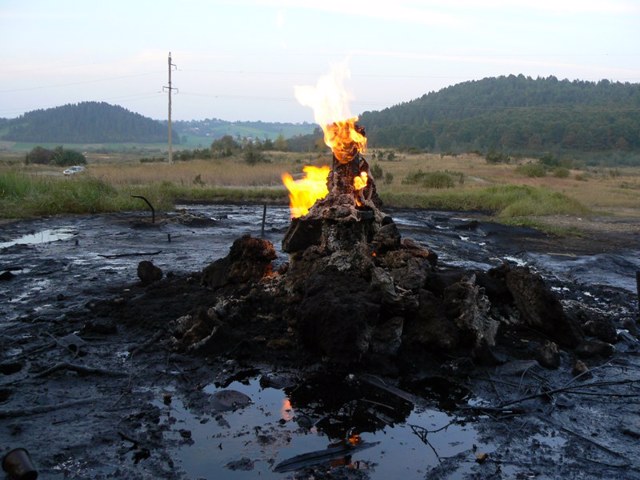
[[[282,174],[282,183],[289,190],[292,218],[306,215],[317,200],[327,196],[329,170],[330,168],[326,165],[322,167],[307,165],[302,169],[305,177],[300,180],[294,180],[288,173]]]

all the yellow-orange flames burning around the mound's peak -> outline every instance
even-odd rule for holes
[[[305,106],[311,107],[314,119],[324,133],[324,142],[333,153],[334,164],[346,165],[358,154],[364,154],[367,138],[364,129],[356,124],[358,117],[349,113],[350,96],[343,86],[344,79],[349,76],[346,64],[334,67],[333,70],[320,77],[315,86],[295,87],[296,99]],[[289,173],[282,175],[282,181],[289,190],[291,217],[306,215],[313,204],[329,193],[327,178],[331,172],[328,166],[303,168],[305,178],[293,180]],[[368,173],[359,172],[353,179],[355,201],[360,192],[367,186]]]

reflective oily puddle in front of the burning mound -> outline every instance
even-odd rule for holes
[[[181,444],[173,452],[176,467],[188,478],[279,479],[303,468],[344,466],[388,479],[403,471],[426,474],[465,452],[467,464],[475,463],[476,430],[443,409],[466,403],[468,392],[446,380],[403,385],[413,394],[366,375],[322,374],[303,382],[253,375],[205,387],[202,396],[217,411],[202,402],[188,408],[191,400],[174,393],[167,401],[166,390],[165,401],[157,402],[166,435]]]

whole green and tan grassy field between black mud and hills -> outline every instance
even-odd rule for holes
[[[24,165],[0,156],[0,217],[96,213],[144,209],[131,195],[144,195],[157,209],[179,201],[286,203],[281,174],[300,174],[307,164],[330,161],[328,153],[268,153],[268,163],[224,160],[140,163],[131,152],[87,155],[85,173]],[[368,158],[378,158],[373,152]],[[531,160],[519,160],[526,164]],[[640,218],[640,169],[566,170],[526,175],[517,164],[488,164],[478,155],[400,154],[394,161],[369,160],[387,205],[443,210],[482,210],[503,222],[527,223],[553,215],[626,215]]]

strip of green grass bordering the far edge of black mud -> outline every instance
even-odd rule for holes
[[[287,203],[284,187],[220,187],[162,181],[113,186],[81,174],[73,177],[0,173],[0,217],[25,218],[64,213],[99,213],[145,209],[131,195],[146,197],[158,210],[179,202]],[[499,185],[478,189],[417,190],[385,193],[386,205],[438,210],[488,211],[502,221],[545,215],[586,215],[577,200],[544,187]]]

